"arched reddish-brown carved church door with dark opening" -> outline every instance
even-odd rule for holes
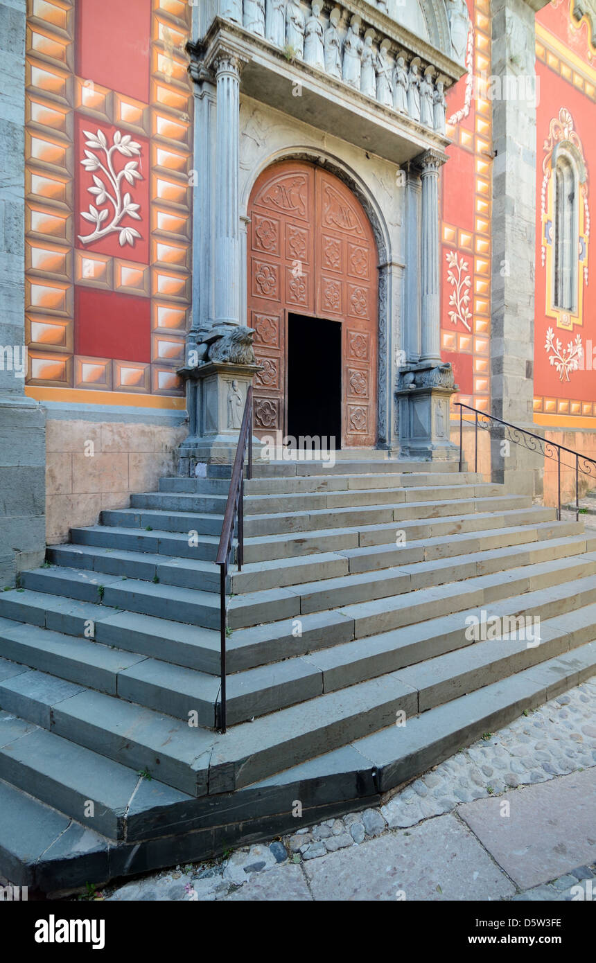
[[[283,161],[257,179],[248,217],[255,433],[375,445],[377,253],[362,205],[328,171]]]

